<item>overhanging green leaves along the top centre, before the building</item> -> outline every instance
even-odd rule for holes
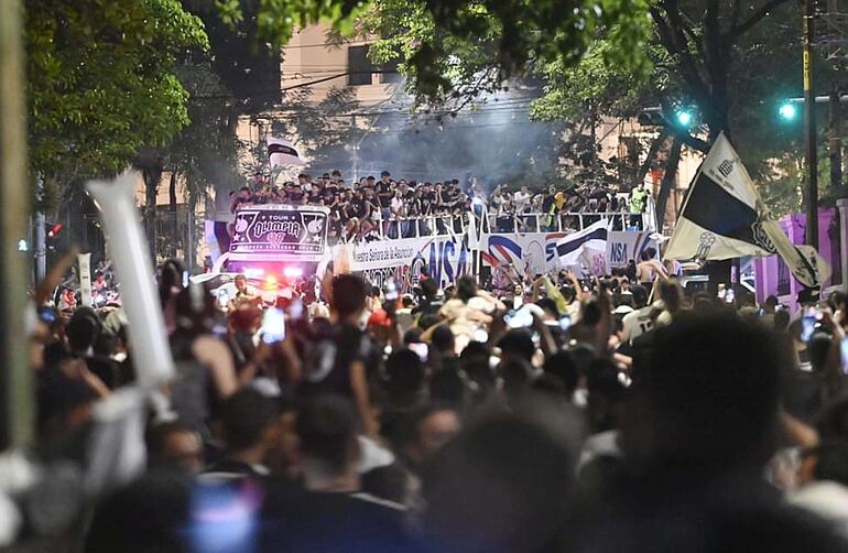
[[[343,35],[381,37],[374,61],[400,57],[410,89],[426,104],[474,98],[526,73],[529,63],[579,61],[601,29],[618,47],[610,62],[643,71],[650,0],[284,0],[261,2],[260,41],[285,44],[295,26],[329,21]],[[240,0],[218,0],[225,20]]]

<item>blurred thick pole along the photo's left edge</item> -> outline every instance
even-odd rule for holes
[[[24,130],[23,7],[0,0],[0,451],[32,438],[32,369],[24,326],[26,258],[18,241],[30,213]]]

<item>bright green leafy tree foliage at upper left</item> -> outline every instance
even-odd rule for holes
[[[208,46],[178,0],[26,0],[29,148],[34,172],[72,182],[115,174],[140,147],[188,123],[174,74]]]

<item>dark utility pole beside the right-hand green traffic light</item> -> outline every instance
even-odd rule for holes
[[[813,96],[813,41],[815,40],[815,0],[804,0],[804,138],[807,150],[807,243],[818,248],[818,151],[816,104]]]

